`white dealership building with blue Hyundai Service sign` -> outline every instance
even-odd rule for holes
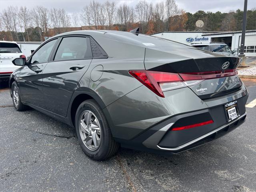
[[[165,31],[151,35],[187,45],[192,43],[224,42],[230,46],[232,50],[238,51],[239,54],[242,31]],[[256,30],[246,30],[244,54],[246,56],[256,56]]]

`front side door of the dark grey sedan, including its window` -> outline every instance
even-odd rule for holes
[[[23,102],[44,108],[42,71],[47,65],[57,41],[58,39],[53,39],[42,45],[22,67],[18,81]]]

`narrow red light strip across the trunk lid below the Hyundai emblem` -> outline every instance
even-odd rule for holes
[[[199,79],[214,79],[214,78],[228,77],[233,75],[237,75],[236,69],[230,69],[230,70],[224,70],[224,71],[180,73],[180,76],[184,81],[199,80]]]

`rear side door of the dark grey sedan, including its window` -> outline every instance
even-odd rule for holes
[[[71,96],[92,61],[90,38],[64,36],[44,68],[46,110],[66,116]]]

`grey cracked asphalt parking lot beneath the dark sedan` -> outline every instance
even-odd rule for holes
[[[256,98],[256,81],[244,81]],[[256,107],[210,144],[164,157],[121,148],[106,161],[84,155],[74,131],[36,110],[17,112],[0,89],[0,191],[255,192]]]

